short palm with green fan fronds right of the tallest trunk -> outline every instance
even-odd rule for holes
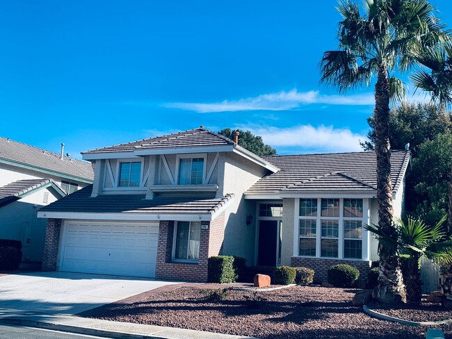
[[[397,256],[408,254],[407,272],[403,272],[406,283],[407,301],[419,303],[422,297],[421,257],[438,264],[452,263],[452,240],[447,238],[442,224],[446,215],[435,226],[429,226],[421,218],[407,217],[407,221],[398,220],[396,238],[389,235],[378,225],[366,225],[366,229],[376,234],[379,242],[385,244]]]

